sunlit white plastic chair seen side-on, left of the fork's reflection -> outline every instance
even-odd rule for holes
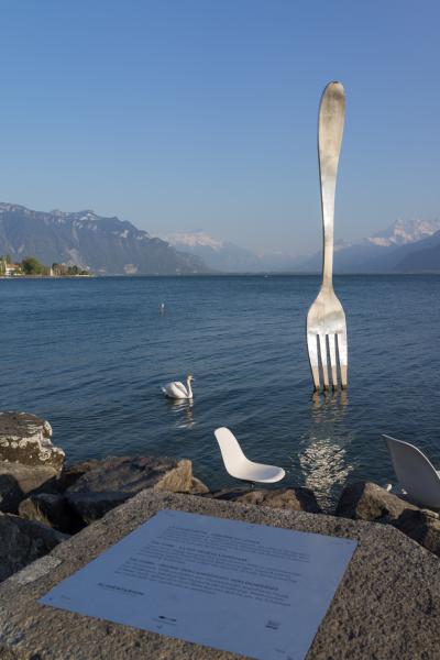
[[[235,436],[226,427],[216,429],[213,433],[220,447],[224,468],[231,476],[251,483],[273,484],[286,475],[283,468],[254,463],[246,459]]]

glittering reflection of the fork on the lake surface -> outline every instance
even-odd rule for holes
[[[298,442],[304,485],[315,492],[324,508],[331,506],[332,494],[343,486],[353,471],[346,448],[354,433],[348,433],[343,427],[348,403],[346,392],[315,393],[310,405],[310,427]]]

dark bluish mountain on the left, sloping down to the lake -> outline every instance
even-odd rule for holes
[[[0,254],[13,261],[36,256],[100,275],[188,275],[209,268],[195,255],[177,252],[146,231],[92,211],[32,211],[0,202]]]

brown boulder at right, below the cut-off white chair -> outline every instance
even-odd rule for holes
[[[422,509],[404,496],[388,493],[370,482],[346,486],[336,510],[337,516],[393,525],[440,557],[440,519],[437,512]]]

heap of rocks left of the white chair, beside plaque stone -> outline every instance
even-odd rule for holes
[[[206,494],[191,462],[109,457],[65,466],[51,425],[0,414],[0,581],[141,491]]]

